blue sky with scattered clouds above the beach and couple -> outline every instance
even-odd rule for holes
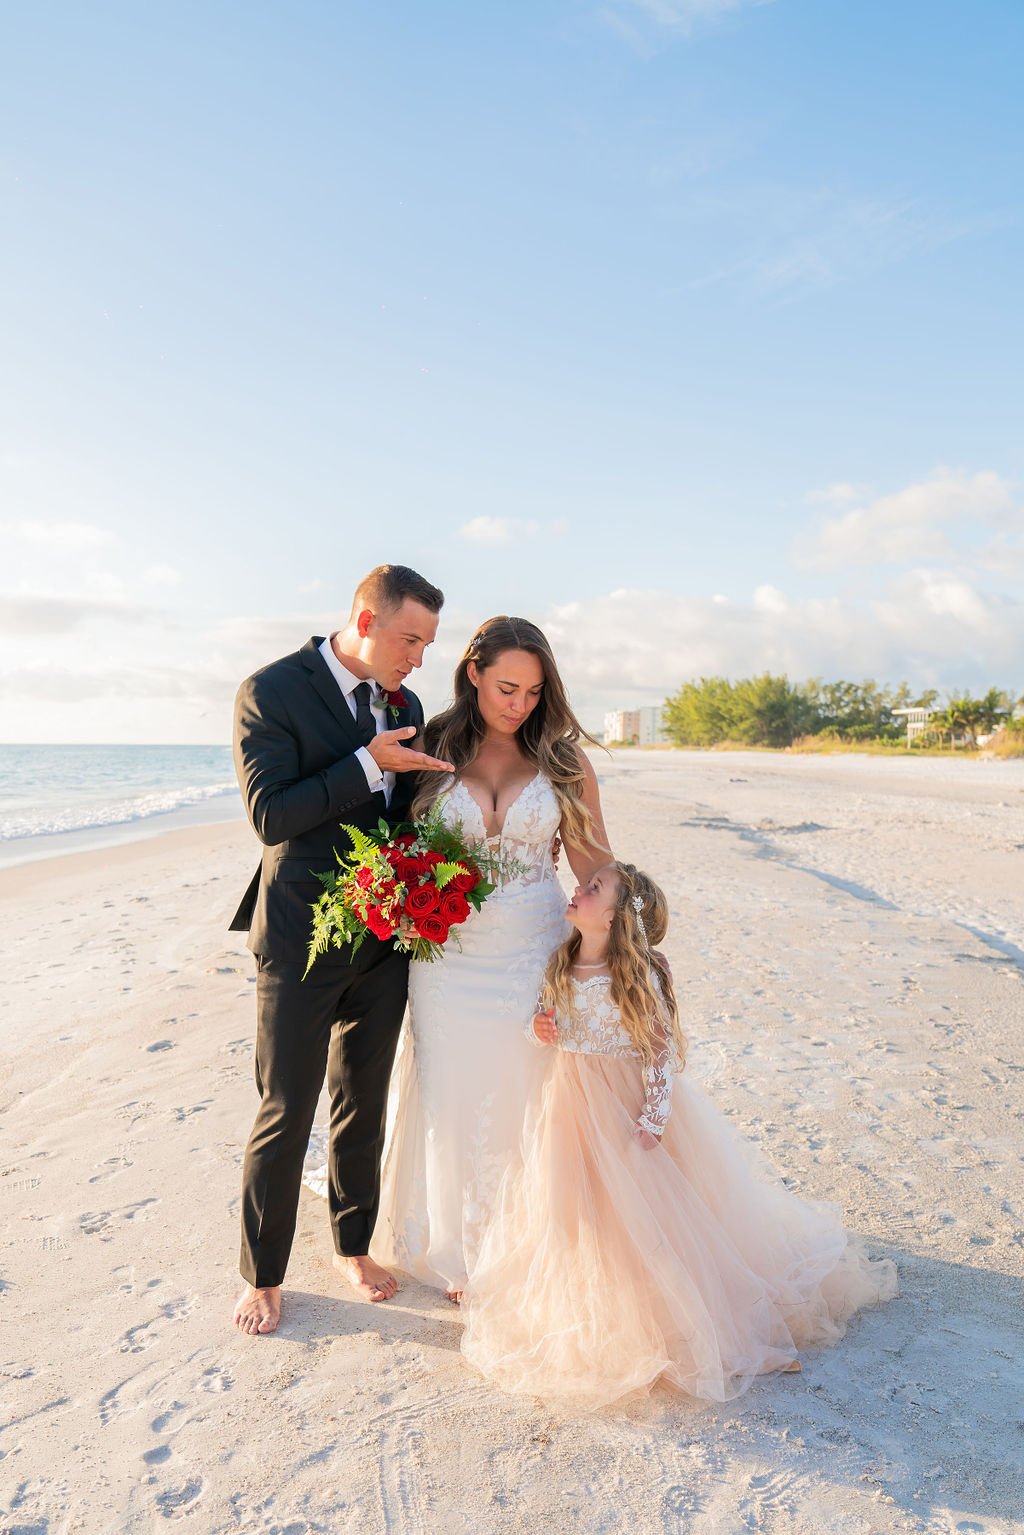
[[[8,17],[0,732],[226,740],[382,559],[585,721],[1024,688],[1016,0]]]

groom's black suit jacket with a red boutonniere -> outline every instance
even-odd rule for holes
[[[408,817],[416,774],[398,774],[391,804],[367,786],[355,755],[362,744],[356,721],[313,635],[301,651],[263,666],[235,698],[235,772],[246,810],[263,847],[263,863],[243,896],[233,930],[249,930],[253,953],[306,962],[312,903],[322,895],[316,873],[338,867],[335,847],[348,850],[339,823],[375,827]],[[422,731],[419,698],[404,688],[408,706],[385,729]],[[411,740],[411,737],[410,737]],[[368,935],[356,955],[365,964],[378,939]],[[348,962],[348,949],[329,950],[318,964]]]

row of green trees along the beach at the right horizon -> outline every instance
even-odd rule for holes
[[[1016,700],[1019,701],[1019,700]],[[895,688],[867,682],[789,682],[788,677],[700,677],[685,682],[665,700],[665,729],[679,746],[792,746],[817,735],[843,741],[906,740],[906,720],[895,709],[932,709],[926,741],[976,743],[1009,721],[1015,700],[999,688],[973,698],[961,694],[938,706],[929,688],[913,694],[909,683]]]

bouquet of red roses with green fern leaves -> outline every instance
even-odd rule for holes
[[[436,959],[451,930],[494,890],[494,855],[467,846],[439,815],[398,830],[379,821],[376,832],[342,832],[352,852],[335,852],[338,869],[318,875],[324,893],[313,904],[306,975],[329,949],[348,944],[355,955],[367,933],[393,938],[413,959]]]

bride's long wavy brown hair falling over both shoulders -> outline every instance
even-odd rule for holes
[[[573,714],[551,646],[543,631],[528,619],[510,619],[500,614],[479,626],[454,669],[451,705],[427,723],[425,751],[431,757],[450,761],[456,778],[468,768],[487,735],[476,688],[470,682],[470,662],[474,662],[479,671],[487,671],[507,651],[527,651],[540,662],[543,689],[536,708],[519,726],[519,746],[524,757],[536,764],[554,789],[567,841],[585,846],[593,837],[594,826],[582,800],[583,769],[576,743],[580,740],[593,746],[599,743]],[[415,818],[430,807],[445,786],[445,780],[438,781],[436,774],[427,778],[413,803]]]

